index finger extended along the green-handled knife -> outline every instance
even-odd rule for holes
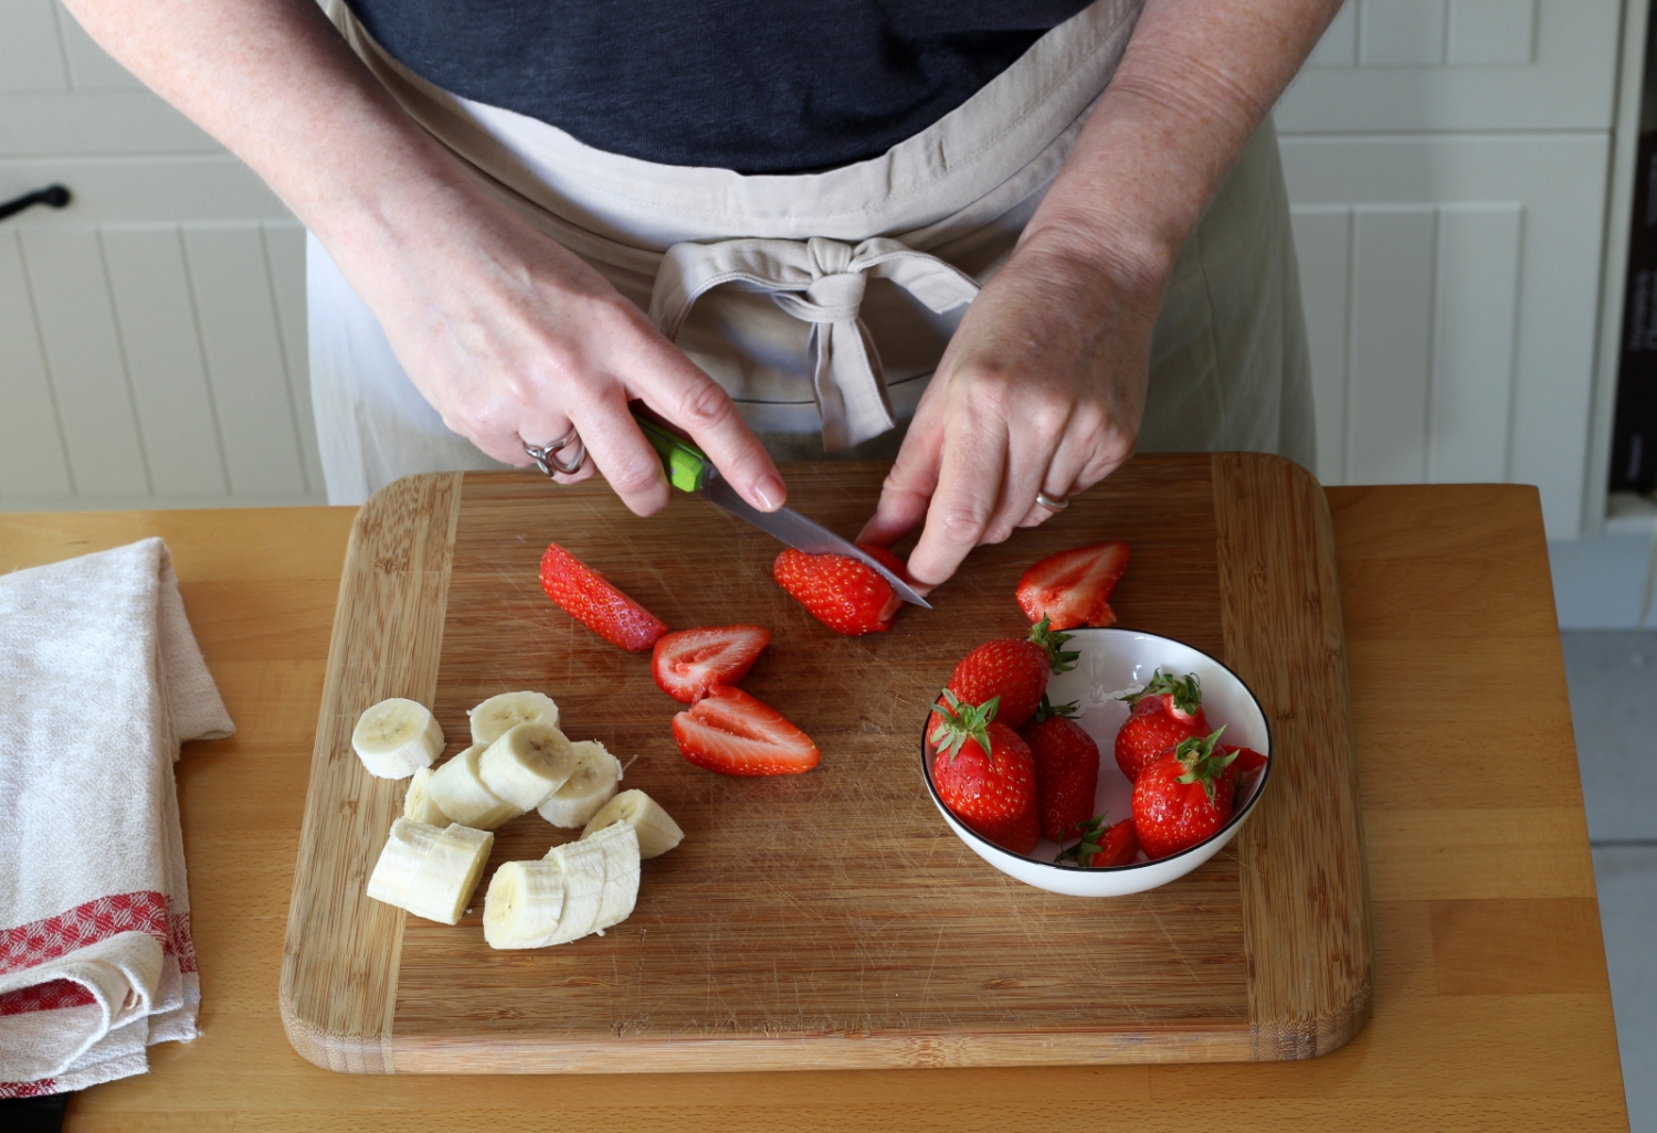
[[[789,489],[766,446],[742,421],[731,394],[678,346],[658,335],[628,373],[645,404],[689,432],[744,500],[762,512],[782,507]]]

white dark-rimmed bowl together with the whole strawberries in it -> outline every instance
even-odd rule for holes
[[[1125,896],[1208,861],[1271,777],[1271,727],[1215,658],[1042,620],[968,654],[928,714],[921,774],[956,835],[1052,893]]]

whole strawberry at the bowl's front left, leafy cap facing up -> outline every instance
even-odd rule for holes
[[[968,704],[949,689],[933,719],[933,785],[956,818],[1002,850],[1029,853],[1041,838],[1036,760],[1019,734],[996,724],[996,701]]]

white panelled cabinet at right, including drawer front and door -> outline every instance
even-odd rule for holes
[[[1284,94],[1326,484],[1536,484],[1597,530],[1627,7],[1347,0]]]

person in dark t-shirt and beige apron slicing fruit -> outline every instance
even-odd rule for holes
[[[310,230],[335,502],[537,449],[648,515],[641,401],[764,510],[895,449],[935,586],[1135,447],[1311,462],[1268,114],[1339,0],[68,7]]]

